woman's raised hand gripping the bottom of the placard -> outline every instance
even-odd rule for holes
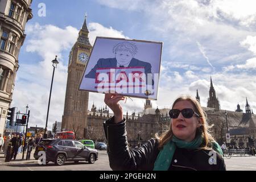
[[[118,103],[119,101],[125,100],[124,96],[118,94],[106,93],[104,102],[114,113],[114,123],[118,123],[123,120],[123,109]]]

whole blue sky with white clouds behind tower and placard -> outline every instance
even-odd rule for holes
[[[39,5],[46,16],[39,16]],[[256,2],[251,0],[55,0],[33,1],[19,54],[12,106],[30,107],[30,126],[45,126],[51,60],[58,55],[48,129],[61,121],[67,84],[68,55],[87,14],[90,43],[96,36],[163,42],[158,100],[170,107],[180,94],[196,95],[207,106],[210,76],[221,109],[244,109],[246,97],[256,113]],[[104,106],[103,95],[90,93]],[[144,100],[127,100],[124,111],[142,110]]]

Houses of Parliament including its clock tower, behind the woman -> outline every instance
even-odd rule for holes
[[[87,64],[92,46],[88,39],[88,28],[86,18],[76,43],[69,54],[68,80],[65,94],[64,114],[61,129],[63,131],[74,131],[77,139],[86,138],[94,141],[106,141],[103,122],[113,117],[107,106],[100,109],[92,105],[88,109],[89,93],[79,91],[80,78]],[[196,99],[200,102],[198,90]],[[170,127],[170,108],[152,108],[150,100],[146,100],[144,109],[140,113],[126,113],[127,138],[131,146],[144,142],[156,133],[161,134]],[[256,115],[250,108],[246,98],[245,113],[240,105],[236,111],[221,110],[220,101],[214,90],[212,78],[210,78],[210,89],[207,107],[203,107],[207,114],[207,121],[212,125],[212,134],[218,143],[226,141],[226,133],[230,133],[228,141],[234,145],[248,146],[248,137],[255,138]],[[228,128],[227,128],[228,127]]]

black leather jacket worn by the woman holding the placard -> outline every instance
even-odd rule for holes
[[[159,142],[151,138],[141,147],[129,148],[127,142],[126,122],[114,123],[114,117],[104,122],[108,141],[110,167],[113,170],[151,171],[159,154]],[[177,148],[169,170],[226,170],[224,159],[217,154],[216,164],[210,164],[207,150],[188,151]]]

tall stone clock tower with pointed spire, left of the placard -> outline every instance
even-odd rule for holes
[[[86,26],[85,16],[84,24],[79,31],[77,41],[69,53],[68,80],[61,124],[62,130],[74,131],[77,139],[84,138],[84,131],[87,126],[89,93],[79,91],[79,84],[90,52],[92,51],[88,34],[89,31]]]

